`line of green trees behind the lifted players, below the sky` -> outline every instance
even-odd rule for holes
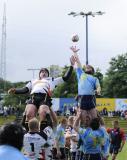
[[[63,68],[64,74],[68,66]],[[61,75],[59,75],[61,76]],[[113,57],[109,62],[109,68],[105,75],[101,73],[99,68],[95,71],[95,76],[98,77],[102,87],[102,95],[104,98],[127,98],[127,53]],[[12,83],[0,79],[0,95],[7,93],[12,87],[23,87],[27,82]],[[6,84],[6,85],[5,85]],[[6,86],[6,88],[5,88]],[[4,89],[5,88],[5,89]],[[75,71],[67,83],[58,86],[54,92],[55,98],[69,98],[77,95],[77,77]],[[21,105],[25,104],[29,95],[8,95],[4,96],[4,105]],[[0,97],[1,99],[1,97]]]

